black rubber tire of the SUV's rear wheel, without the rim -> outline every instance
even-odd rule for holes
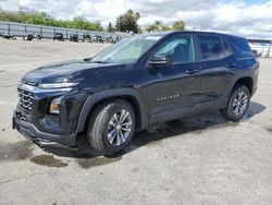
[[[237,99],[237,97],[238,97],[238,95],[240,93],[244,93],[247,96],[247,102],[246,102],[245,109],[243,109],[243,112],[237,113],[237,111],[236,111],[236,113],[235,113],[235,108],[236,107],[234,107],[234,100]],[[222,109],[221,113],[226,120],[237,122],[247,112],[249,104],[250,104],[250,92],[249,92],[249,89],[245,85],[237,84],[237,85],[235,85],[235,87],[234,87],[234,89],[233,89],[233,92],[232,92],[232,94],[230,96],[227,107]]]

